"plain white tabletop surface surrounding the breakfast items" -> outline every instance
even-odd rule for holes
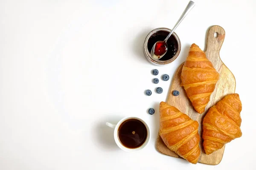
[[[254,0],[195,0],[175,31],[180,56],[164,67],[143,56],[154,28],[172,28],[188,0],[1,0],[0,170],[256,169]],[[226,31],[220,56],[236,77],[242,137],[226,145],[216,166],[190,164],[155,149],[158,105],[189,46],[205,47],[209,26]],[[156,94],[156,87],[163,94]],[[145,96],[151,89],[153,94]],[[148,108],[156,113],[149,115]],[[148,122],[152,138],[125,153],[113,130],[125,116]]]

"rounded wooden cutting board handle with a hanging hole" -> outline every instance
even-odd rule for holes
[[[217,37],[215,37],[215,35],[217,35]],[[206,53],[208,51],[215,51],[219,54],[224,38],[225,30],[221,26],[211,26],[206,38]]]

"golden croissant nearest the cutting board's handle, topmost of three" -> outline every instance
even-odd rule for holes
[[[181,86],[198,113],[204,112],[218,79],[219,74],[204,51],[192,44],[181,71]]]

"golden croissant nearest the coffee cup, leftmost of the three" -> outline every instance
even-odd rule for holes
[[[160,136],[170,150],[197,163],[201,153],[198,122],[166,102],[160,102]]]

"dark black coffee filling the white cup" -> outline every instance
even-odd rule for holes
[[[119,141],[128,148],[140,147],[147,139],[147,136],[146,126],[138,119],[125,120],[118,129]]]

